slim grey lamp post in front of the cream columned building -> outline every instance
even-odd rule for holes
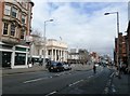
[[[46,26],[48,22],[53,22],[53,19],[44,20],[44,32],[43,32],[43,64],[46,64],[46,43],[47,43],[47,38],[46,38]]]

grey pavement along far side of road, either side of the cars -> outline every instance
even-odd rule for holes
[[[81,65],[81,64],[72,64],[72,70],[89,70],[92,69],[92,65]],[[1,69],[0,76],[4,74],[14,74],[14,73],[24,73],[24,72],[35,72],[35,71],[47,71],[48,69],[44,66],[32,66],[29,68],[16,68],[16,69]]]

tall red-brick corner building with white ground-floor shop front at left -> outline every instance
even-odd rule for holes
[[[3,68],[27,68],[34,2],[0,1],[0,52]]]

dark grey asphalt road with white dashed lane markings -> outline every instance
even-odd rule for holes
[[[113,70],[99,67],[93,70],[63,72],[28,72],[4,76],[3,94],[104,94]]]

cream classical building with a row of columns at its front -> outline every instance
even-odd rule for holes
[[[51,60],[67,61],[67,43],[55,39],[48,39],[46,54]]]

